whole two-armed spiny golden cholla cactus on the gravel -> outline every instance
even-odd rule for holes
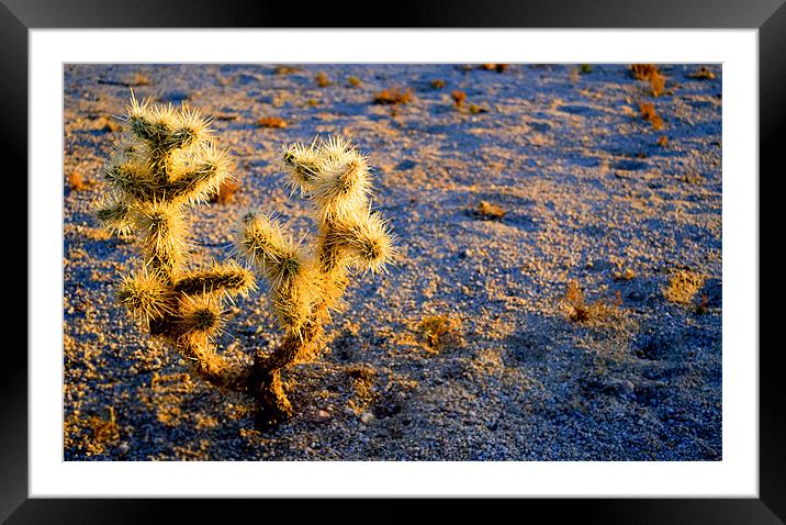
[[[228,159],[198,111],[139,103],[133,94],[126,111],[130,132],[105,170],[111,193],[97,210],[110,231],[136,235],[143,254],[144,264],[120,282],[117,301],[204,379],[255,396],[260,423],[290,417],[281,369],[317,353],[349,275],[382,271],[394,256],[385,221],[371,211],[366,157],[340,139],[285,148],[290,182],[312,201],[318,234],[304,246],[271,215],[244,215],[237,253],[262,275],[285,335],[252,364],[229,364],[214,350],[223,303],[255,289],[254,272],[233,260],[191,268],[184,217],[229,177]]]

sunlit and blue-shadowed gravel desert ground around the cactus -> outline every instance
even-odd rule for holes
[[[65,66],[65,459],[720,460],[721,69],[706,67],[661,65],[654,98],[626,65]],[[393,87],[412,100],[373,103]],[[284,373],[296,416],[273,431],[113,302],[138,252],[91,209],[130,88],[214,115],[237,164],[234,202],[190,215],[198,259],[228,257],[249,205],[311,226],[284,143],[329,133],[370,155],[402,255]],[[227,319],[220,351],[237,359],[281,339],[261,294]]]

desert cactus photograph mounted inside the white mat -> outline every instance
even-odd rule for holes
[[[722,64],[61,80],[66,462],[723,461]]]

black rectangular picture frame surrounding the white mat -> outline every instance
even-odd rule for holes
[[[305,3],[303,5],[306,5]],[[395,3],[372,15],[372,5],[362,2],[297,8],[290,2],[244,0],[168,0],[133,2],[101,0],[1,0],[0,64],[2,65],[2,148],[16,174],[27,172],[27,31],[32,29],[89,27],[626,27],[626,29],[757,29],[760,72],[760,175],[751,174],[751,183],[760,194],[760,465],[759,499],[608,499],[608,500],[505,500],[487,504],[467,500],[441,500],[420,505],[416,517],[445,523],[472,515],[520,516],[535,518],[546,511],[558,517],[575,517],[606,524],[650,523],[784,523],[786,522],[786,377],[783,344],[777,344],[776,326],[783,317],[779,300],[784,283],[778,270],[786,262],[779,248],[778,231],[783,223],[776,200],[776,185],[784,178],[779,142],[786,136],[786,4],[784,0],[495,0],[456,2],[439,0],[428,4],[412,1]],[[777,171],[776,171],[777,170]],[[5,174],[20,187],[15,196],[30,197],[26,179]],[[19,199],[21,202],[25,200]],[[7,262],[30,268],[27,231],[9,233],[14,250]],[[16,238],[13,238],[16,235]],[[36,276],[27,271],[27,282]],[[766,279],[766,281],[762,281]],[[26,295],[25,295],[26,297]],[[24,310],[26,312],[26,309]],[[26,319],[25,319],[26,320]],[[767,337],[772,336],[772,337]],[[26,337],[26,336],[25,336]],[[67,500],[27,498],[27,358],[24,345],[8,345],[0,373],[0,520],[9,523],[155,523],[170,520],[168,512],[182,523],[191,516],[209,517],[222,513],[227,504],[207,500]],[[755,348],[750,348],[755,351]],[[635,480],[631,480],[635,482]],[[420,501],[419,503],[425,503]],[[255,500],[233,502],[237,520],[246,512],[290,513],[299,520],[346,516],[357,521],[396,523],[415,514],[412,503],[403,500],[362,500],[343,502],[321,500],[285,505]],[[438,513],[438,514],[437,514]],[[233,520],[235,520],[233,518]]]

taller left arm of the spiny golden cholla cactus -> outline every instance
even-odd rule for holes
[[[184,107],[126,107],[130,132],[105,169],[111,196],[97,217],[113,232],[138,238],[144,265],[125,276],[117,300],[194,361],[210,381],[245,388],[248,373],[215,354],[225,299],[255,287],[254,273],[234,261],[191,269],[184,211],[204,202],[229,177],[224,152],[215,148],[209,119]]]

